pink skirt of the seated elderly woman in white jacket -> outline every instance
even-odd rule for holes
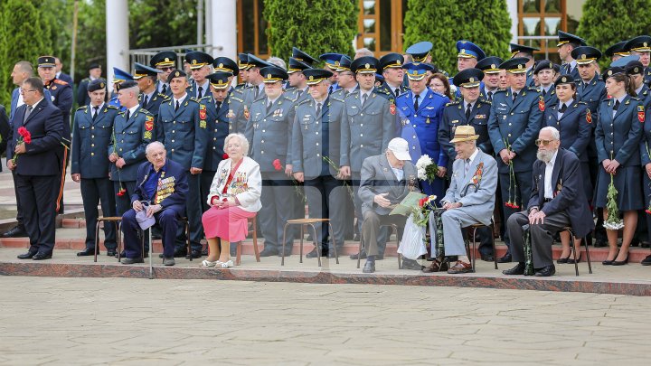
[[[247,219],[256,212],[244,211],[240,207],[218,209],[211,207],[203,212],[203,232],[207,239],[222,238],[230,242],[246,239],[249,231]]]

